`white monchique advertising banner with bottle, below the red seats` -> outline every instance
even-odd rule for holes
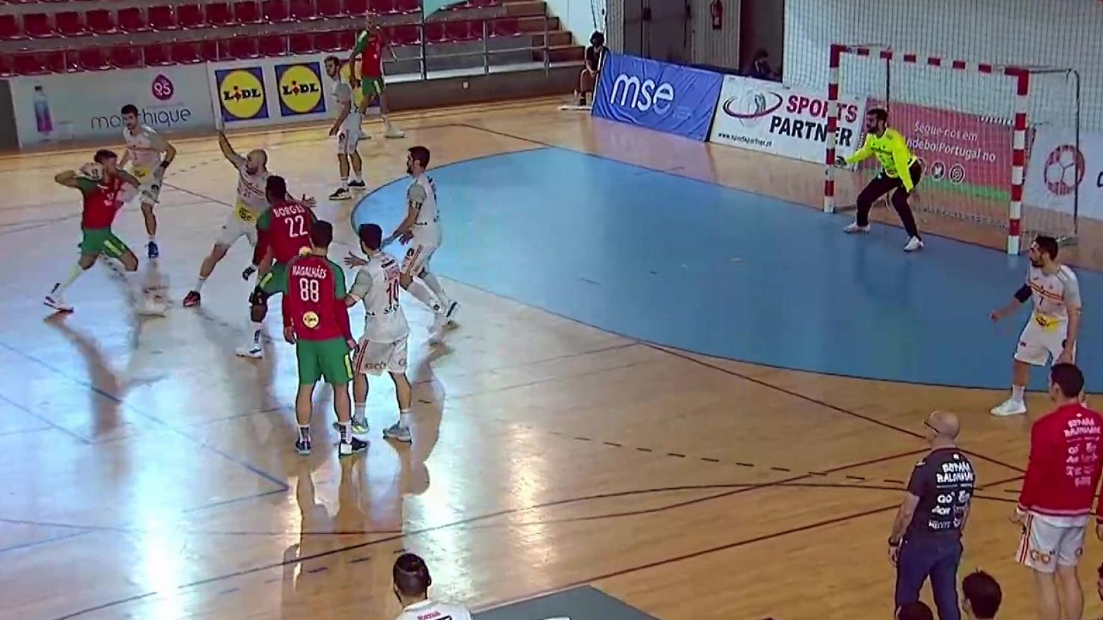
[[[213,129],[206,74],[189,65],[11,78],[19,145],[120,139],[127,104],[159,131]]]

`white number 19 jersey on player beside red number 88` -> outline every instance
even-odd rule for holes
[[[398,303],[398,270],[395,257],[381,252],[356,271],[349,296],[364,302],[364,338],[371,342],[396,342],[410,333]]]

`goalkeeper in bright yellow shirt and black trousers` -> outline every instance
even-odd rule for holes
[[[888,126],[889,113],[881,108],[874,108],[866,114],[866,141],[861,148],[853,156],[837,158],[836,165],[845,167],[857,163],[869,156],[877,156],[882,170],[874,177],[872,181],[861,193],[858,194],[858,215],[853,224],[844,228],[847,233],[869,232],[869,210],[874,206],[874,201],[882,195],[892,192],[892,207],[900,216],[903,229],[908,232],[908,245],[904,252],[915,252],[922,249],[923,239],[919,236],[919,228],[915,226],[915,216],[908,204],[908,196],[911,195],[919,179],[923,175],[923,164],[919,158],[911,154],[908,149],[908,141],[904,137]]]

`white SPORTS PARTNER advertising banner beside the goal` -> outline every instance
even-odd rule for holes
[[[836,149],[848,156],[860,146],[865,101],[840,99]],[[719,145],[824,161],[827,98],[777,82],[727,75],[708,140]]]

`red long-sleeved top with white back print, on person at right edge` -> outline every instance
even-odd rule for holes
[[[1019,510],[1068,526],[1088,521],[1103,471],[1103,416],[1079,403],[1061,405],[1030,428],[1030,462]]]

